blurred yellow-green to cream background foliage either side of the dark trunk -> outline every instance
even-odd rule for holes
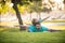
[[[57,8],[60,10],[63,10],[65,0],[61,0],[62,2],[60,1],[57,2],[57,1],[56,0],[21,0],[21,2],[17,1],[17,8],[21,13],[24,13],[25,10],[29,13],[30,11],[40,12],[40,10],[41,12],[50,12]],[[11,0],[0,0],[0,13],[5,13],[8,11],[14,13],[14,10],[12,6],[13,6],[13,3],[11,2]]]

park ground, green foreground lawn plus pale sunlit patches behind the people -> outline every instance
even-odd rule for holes
[[[30,22],[24,22],[26,24]],[[1,23],[2,26],[17,23]],[[62,31],[56,32],[27,32],[20,31],[17,27],[0,27],[0,43],[65,43],[65,19],[43,22],[48,28],[54,28]],[[50,25],[50,26],[49,26]]]

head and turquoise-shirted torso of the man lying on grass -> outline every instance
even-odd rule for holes
[[[41,26],[39,22],[28,27],[28,32],[43,32],[43,31],[48,31],[48,28]]]

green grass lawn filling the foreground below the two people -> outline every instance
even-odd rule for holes
[[[0,43],[65,43],[65,31],[23,32],[18,29],[0,32]]]

